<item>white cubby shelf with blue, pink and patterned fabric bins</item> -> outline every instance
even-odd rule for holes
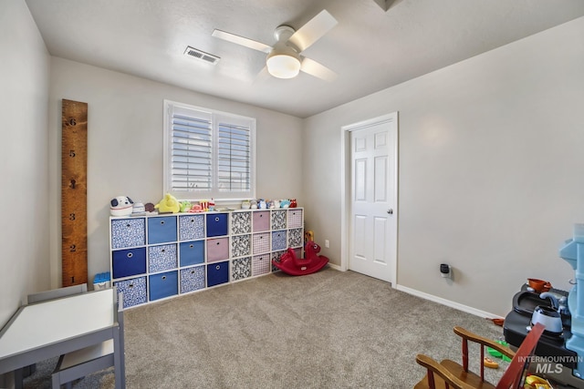
[[[301,208],[110,217],[110,271],[130,308],[277,271],[303,243]]]

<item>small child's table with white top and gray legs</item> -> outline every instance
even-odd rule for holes
[[[121,321],[113,289],[22,306],[0,331],[0,374],[22,374],[29,364],[113,339],[116,388],[123,389]]]

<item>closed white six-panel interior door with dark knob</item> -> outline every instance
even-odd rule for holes
[[[395,282],[397,114],[350,128],[349,270]]]

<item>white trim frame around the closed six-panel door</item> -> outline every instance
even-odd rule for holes
[[[350,178],[350,171],[351,171],[351,160],[350,160],[350,131],[354,131],[360,128],[367,128],[373,125],[377,125],[383,122],[395,122],[395,143],[394,149],[391,150],[394,153],[394,182],[393,182],[393,189],[395,196],[395,207],[393,209],[393,216],[396,218],[395,220],[395,261],[391,263],[391,287],[397,287],[397,270],[398,270],[398,236],[399,236],[399,190],[398,190],[398,173],[399,173],[399,135],[400,135],[400,125],[398,121],[398,112],[392,112],[391,114],[382,115],[377,118],[370,118],[366,120],[362,120],[357,123],[352,123],[346,126],[342,126],[340,128],[340,188],[341,188],[341,196],[340,196],[340,270],[347,271],[349,270],[349,225],[351,222],[351,201],[350,201],[350,193],[351,193],[351,178]]]

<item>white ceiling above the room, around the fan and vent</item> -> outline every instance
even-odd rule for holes
[[[582,0],[26,0],[52,56],[306,118],[584,15]],[[339,77],[258,77],[272,45],[322,9],[338,21],[303,55]],[[184,56],[193,46],[221,60]]]

